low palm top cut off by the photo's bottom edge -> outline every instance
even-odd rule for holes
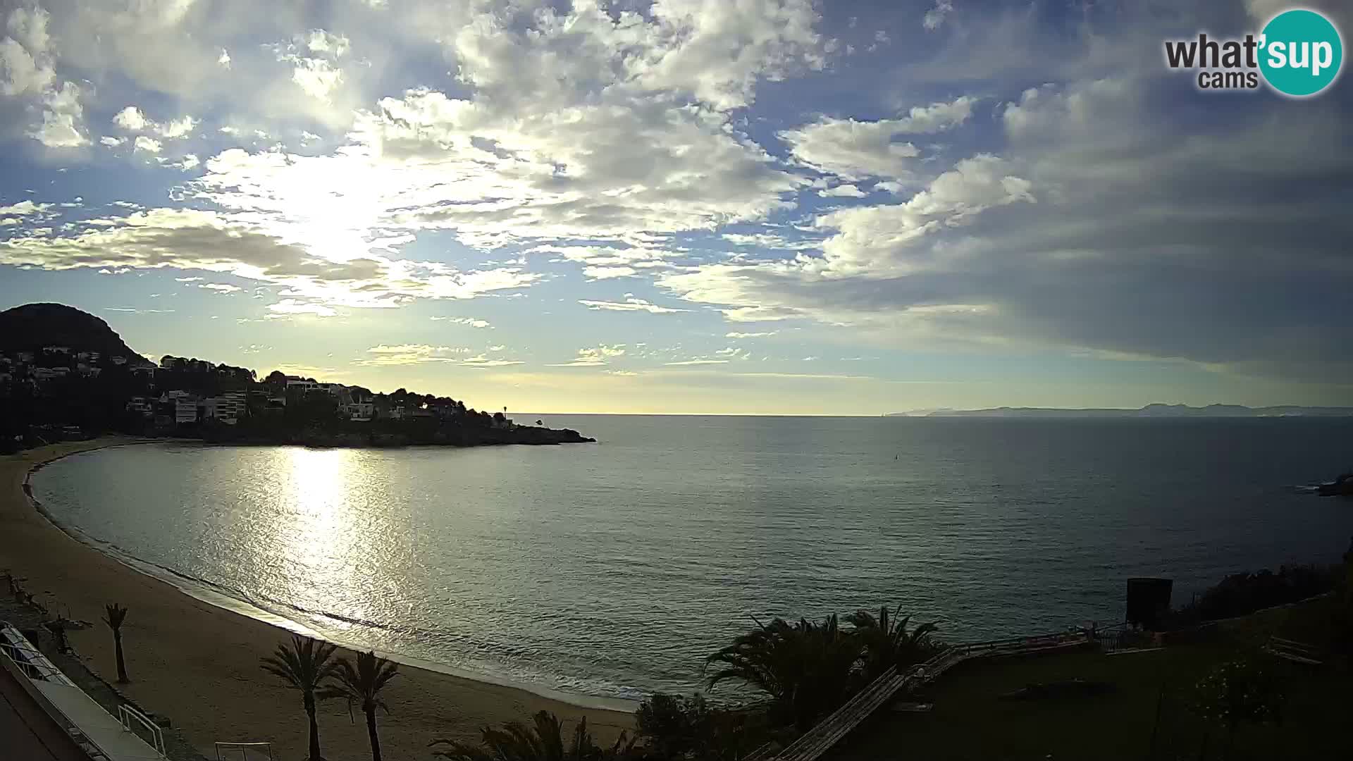
[[[532,716],[532,726],[521,722],[507,722],[501,730],[484,727],[479,746],[455,739],[432,741],[433,756],[451,761],[618,761],[630,757],[635,741],[620,734],[610,749],[598,747],[587,731],[587,718],[583,716],[574,727],[572,742],[566,745],[559,716],[540,711]]]

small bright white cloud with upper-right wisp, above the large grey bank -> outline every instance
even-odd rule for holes
[[[778,133],[800,162],[847,180],[905,177],[912,173],[920,149],[896,141],[904,134],[931,134],[962,125],[971,116],[976,97],[915,107],[900,119],[861,122],[824,116],[817,122]]]

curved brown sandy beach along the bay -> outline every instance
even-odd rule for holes
[[[300,695],[258,668],[288,632],[249,616],[191,597],[88,547],[49,523],[23,493],[31,467],[66,454],[131,443],[100,439],[55,444],[0,458],[0,569],[26,577],[24,588],[69,617],[95,626],[70,632],[89,668],[112,681],[112,636],[100,622],[107,603],[130,609],[123,626],[127,672],[124,692],[169,716],[193,745],[214,758],[216,741],[268,741],[279,760],[304,757],[306,716]],[[346,653],[346,651],[344,651]],[[434,737],[478,739],[479,727],[526,719],[545,710],[561,719],[586,715],[599,741],[632,724],[632,715],[583,710],[534,693],[436,672],[400,666],[387,688],[390,715],[380,715],[386,758],[430,758]],[[360,712],[349,722],[346,705],[321,707],[319,733],[330,761],[369,758]]]

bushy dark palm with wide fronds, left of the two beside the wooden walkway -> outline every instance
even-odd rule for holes
[[[813,720],[842,703],[854,682],[861,658],[859,642],[835,615],[815,624],[806,619],[790,624],[774,619],[756,622],[755,630],[710,655],[705,664],[721,664],[709,677],[713,688],[724,680],[743,681],[771,699],[771,715],[808,729]]]

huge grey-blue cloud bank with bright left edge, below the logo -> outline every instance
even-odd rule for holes
[[[1193,106],[1155,104],[1147,84],[1026,92],[999,110],[1005,156],[965,158],[901,203],[821,215],[821,256],[659,284],[729,320],[848,325],[886,347],[1348,376],[1353,313],[1335,305],[1353,287],[1353,227],[1322,190],[1353,183],[1338,107],[1200,127]]]

